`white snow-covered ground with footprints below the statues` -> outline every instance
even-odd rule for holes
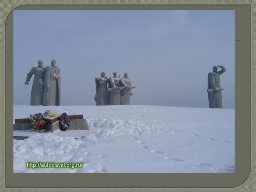
[[[13,106],[13,121],[45,110],[83,114],[90,131],[14,131],[16,136],[30,137],[13,139],[13,172],[235,171],[234,109],[143,105]],[[26,162],[83,162],[83,167],[31,169],[26,168]]]

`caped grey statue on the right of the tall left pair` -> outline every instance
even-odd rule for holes
[[[51,61],[51,66],[45,68],[45,91],[43,105],[61,105],[61,72],[56,61]]]

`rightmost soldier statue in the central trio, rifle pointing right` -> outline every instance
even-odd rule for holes
[[[131,92],[131,80],[128,78],[128,74],[125,73],[124,77],[120,79],[121,86],[125,88],[121,90],[120,104],[121,105],[130,105],[130,96],[133,95]]]

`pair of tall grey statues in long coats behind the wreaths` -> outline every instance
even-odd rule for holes
[[[51,61],[51,66],[43,67],[43,61],[38,61],[38,66],[33,67],[25,81],[29,85],[29,80],[34,76],[30,105],[61,105],[61,73],[56,61]]]

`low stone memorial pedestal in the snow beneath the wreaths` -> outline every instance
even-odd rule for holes
[[[60,114],[61,115],[61,114]],[[59,117],[45,117],[46,131],[53,132],[54,130],[60,129]],[[86,119],[83,115],[69,115],[70,126],[67,130],[89,130]],[[13,130],[27,130],[30,129],[29,118],[15,119],[15,124],[13,124]]]

